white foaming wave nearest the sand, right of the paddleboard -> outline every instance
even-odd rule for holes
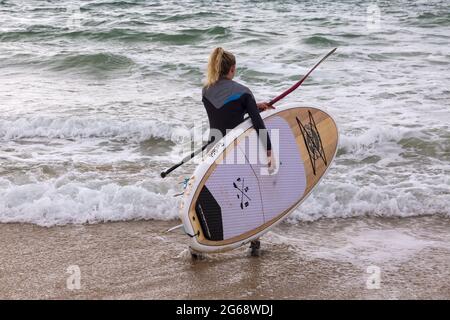
[[[385,181],[384,185],[357,180],[347,182],[326,179],[290,216],[290,222],[321,218],[361,216],[412,217],[443,215],[450,217],[450,178],[445,175],[419,181],[414,175],[408,181]]]

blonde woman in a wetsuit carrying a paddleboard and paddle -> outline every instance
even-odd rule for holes
[[[272,108],[267,103],[257,104],[252,92],[247,87],[233,81],[236,74],[236,58],[222,48],[211,53],[208,62],[206,84],[202,92],[202,101],[208,114],[210,132],[220,131],[225,136],[227,130],[233,129],[244,120],[248,113],[256,132],[266,130],[260,111]],[[266,132],[266,131],[263,131]],[[268,133],[267,139],[261,139],[267,149],[268,166],[271,167],[272,147]],[[215,137],[215,134],[210,134]],[[261,136],[260,136],[261,138]],[[217,139],[215,139],[217,141]],[[252,241],[252,255],[258,255],[260,243]]]

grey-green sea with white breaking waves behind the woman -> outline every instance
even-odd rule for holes
[[[291,222],[450,215],[448,2],[377,3],[0,1],[0,222],[177,217],[195,164],[159,172],[207,124],[215,46],[260,101],[339,48],[279,103],[322,108],[341,134]]]

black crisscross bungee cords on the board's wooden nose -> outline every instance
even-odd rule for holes
[[[308,110],[309,123],[303,124],[298,117],[297,120],[300,131],[302,132],[303,140],[305,141],[306,149],[308,150],[309,160],[311,161],[311,167],[314,175],[316,175],[316,161],[320,158],[325,165],[327,163],[327,157],[323,150],[322,139],[320,138],[319,130],[317,130],[316,122],[312,116],[311,111]]]

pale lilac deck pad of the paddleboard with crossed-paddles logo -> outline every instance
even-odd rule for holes
[[[221,207],[224,240],[279,216],[305,192],[305,169],[291,128],[279,116],[267,119],[266,127],[271,132],[272,149],[278,163],[276,174],[267,174],[264,155],[263,161],[253,161],[258,151],[264,150],[253,131],[238,144],[235,152],[229,152],[219,162],[205,183]]]

